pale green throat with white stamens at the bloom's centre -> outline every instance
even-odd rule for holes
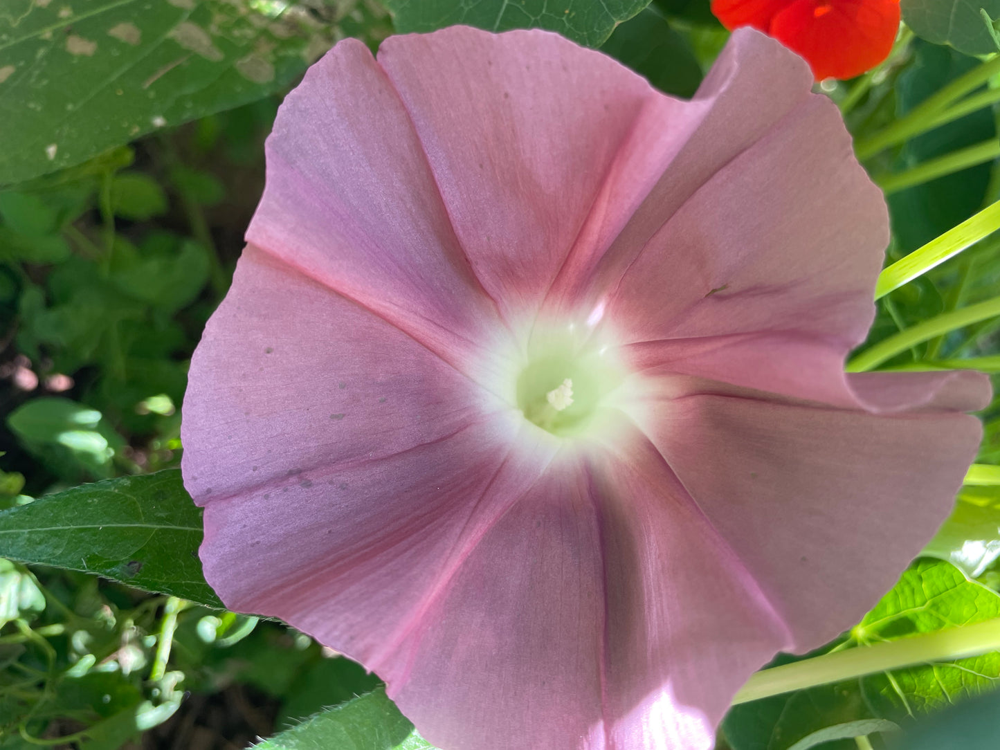
[[[536,339],[529,357],[517,379],[517,406],[560,437],[584,432],[622,380],[606,349],[581,345],[568,334]]]

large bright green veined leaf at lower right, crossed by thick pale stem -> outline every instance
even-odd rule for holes
[[[940,560],[916,562],[849,636],[834,648],[932,633],[1000,616],[1000,596]],[[793,661],[783,657],[783,662]],[[905,725],[963,698],[986,692],[1000,680],[1000,653],[935,662],[868,675],[735,706],[723,724],[733,750],[788,750],[828,727],[851,728],[881,720]],[[849,735],[849,731],[848,731]],[[836,733],[831,733],[831,737]],[[840,736],[847,736],[841,734]],[[837,740],[824,750],[857,750]]]

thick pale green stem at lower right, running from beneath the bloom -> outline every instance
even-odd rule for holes
[[[1000,650],[1000,618],[764,669],[740,689],[733,705],[914,664],[955,661],[997,650]]]

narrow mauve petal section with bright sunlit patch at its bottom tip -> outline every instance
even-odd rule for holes
[[[711,748],[733,695],[791,636],[648,439],[616,448],[595,472],[609,748]]]

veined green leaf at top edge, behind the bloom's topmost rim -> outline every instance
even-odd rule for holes
[[[615,26],[650,0],[386,0],[396,31],[434,31],[465,24],[487,31],[548,29],[599,47]]]

